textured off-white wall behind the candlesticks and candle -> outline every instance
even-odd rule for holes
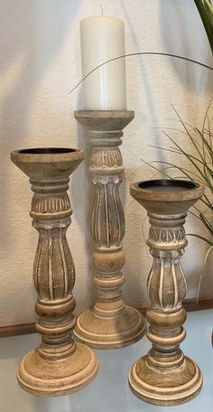
[[[26,176],[9,160],[10,151],[33,146],[79,146],[87,149],[87,137],[79,129],[73,111],[79,108],[80,88],[69,89],[80,79],[79,20],[100,14],[95,0],[4,0],[1,5],[1,288],[0,325],[34,320],[36,299],[32,262],[37,233],[29,217],[32,192]],[[102,0],[106,15],[125,22],[126,52],[171,52],[212,65],[208,41],[191,0]],[[166,57],[134,57],[127,60],[128,108],[134,121],[126,127],[122,154],[125,183],[124,248],[125,301],[148,303],[146,276],[150,267],[140,230],[144,211],[129,196],[129,183],[154,176],[146,162],[166,157],[150,145],[166,145],[163,126],[176,126],[171,104],[181,117],[200,125],[212,93],[212,74],[198,65]],[[160,127],[160,129],[156,128]],[[179,134],[181,143],[184,138]],[[163,156],[163,157],[162,157]],[[176,159],[180,162],[180,159]],[[89,196],[88,196],[89,194]],[[76,265],[74,295],[79,313],[94,302],[91,282],[92,243],[88,231],[91,208],[87,161],[73,174],[70,195],[73,206],[69,245]],[[199,230],[188,221],[188,231]],[[147,222],[144,225],[147,231]],[[182,259],[189,283],[189,297],[196,294],[204,246],[190,238]],[[209,266],[210,267],[210,266]],[[212,295],[210,273],[202,295]]]

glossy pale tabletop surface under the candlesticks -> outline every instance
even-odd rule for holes
[[[1,412],[212,412],[213,350],[211,332],[213,310],[188,314],[186,340],[181,348],[195,360],[203,373],[203,389],[197,398],[176,407],[155,407],[135,398],[128,388],[127,376],[134,361],[150,348],[143,338],[134,345],[115,351],[96,351],[99,359],[97,378],[86,389],[60,398],[34,397],[16,383],[15,370],[23,354],[40,342],[38,335],[0,339]]]

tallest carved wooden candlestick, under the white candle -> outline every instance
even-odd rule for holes
[[[89,172],[96,187],[91,234],[97,303],[79,315],[74,334],[94,348],[121,348],[138,341],[145,330],[144,317],[125,306],[121,290],[125,281],[121,272],[125,265],[125,216],[119,197],[124,172],[119,145],[134,111],[77,111],[75,117],[88,129],[92,145]]]

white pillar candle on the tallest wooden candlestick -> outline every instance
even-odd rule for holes
[[[115,17],[88,17],[80,22],[82,75],[125,54],[125,26]],[[110,61],[83,82],[84,108],[124,110],[125,58]]]

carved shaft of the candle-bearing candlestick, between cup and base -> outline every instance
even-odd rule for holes
[[[125,255],[122,252],[125,215],[119,196],[124,171],[119,150],[122,135],[122,132],[89,132],[93,146],[89,171],[91,182],[96,188],[91,213],[91,235],[96,248],[94,260],[97,268],[94,279],[97,303],[94,311],[98,316],[113,318],[125,309],[121,290],[125,281],[125,276],[121,272],[125,264]],[[108,258],[110,266],[106,265]]]

